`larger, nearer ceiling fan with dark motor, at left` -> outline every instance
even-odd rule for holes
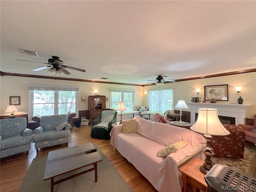
[[[16,59],[18,61],[27,61],[27,60],[20,60],[20,59]],[[43,63],[43,64],[48,64],[48,66],[44,66],[44,67],[40,67],[40,68],[36,68],[33,69],[33,71],[40,71],[43,69],[46,69],[48,67],[51,67],[48,72],[50,74],[57,74],[57,75],[61,75],[61,74],[66,74],[69,75],[71,74],[70,72],[68,72],[66,69],[64,68],[68,68],[68,69],[73,69],[73,70],[77,70],[77,71],[81,71],[81,72],[85,72],[84,69],[79,69],[76,67],[71,67],[71,66],[66,66],[64,65],[64,62],[62,60],[60,60],[59,57],[57,56],[52,56],[52,58],[48,59],[48,63],[44,63],[44,62],[37,62],[37,61],[28,61],[28,62],[36,62],[36,63]]]

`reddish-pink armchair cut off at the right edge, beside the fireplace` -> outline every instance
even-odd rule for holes
[[[241,127],[241,130],[245,132],[245,140],[253,142],[256,146],[256,114],[253,116],[254,124],[251,125],[244,125],[238,124]]]

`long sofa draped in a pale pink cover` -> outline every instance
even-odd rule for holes
[[[122,125],[110,132],[113,145],[159,192],[181,192],[178,166],[187,160],[201,158],[205,138],[192,130],[153,122],[141,117],[136,120],[136,133],[122,133]],[[188,144],[166,157],[157,153],[177,141]],[[180,180],[179,180],[180,179]]]

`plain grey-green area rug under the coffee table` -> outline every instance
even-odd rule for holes
[[[122,176],[114,168],[108,158],[103,154],[97,144],[99,154],[103,161],[98,162],[98,182],[94,182],[94,171],[72,178],[54,186],[54,192],[132,192]],[[50,191],[50,180],[43,181],[47,156],[33,159],[27,175],[23,181],[20,192],[46,192]],[[74,162],[70,162],[74,163]],[[92,166],[93,167],[93,166]],[[92,168],[90,166],[81,169]],[[79,170],[79,172],[81,172]],[[70,173],[69,173],[70,174]],[[69,174],[66,174],[69,175]],[[61,176],[59,177],[61,178]],[[59,179],[58,178],[58,179]],[[56,181],[56,180],[55,180]]]

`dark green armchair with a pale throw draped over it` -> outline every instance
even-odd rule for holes
[[[100,112],[98,118],[92,121],[91,137],[109,140],[112,124],[116,122],[116,114],[113,110]]]

